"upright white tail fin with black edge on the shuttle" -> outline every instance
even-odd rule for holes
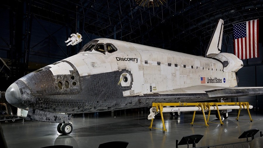
[[[223,37],[224,21],[219,19],[214,32],[209,41],[207,49],[205,51],[205,57],[212,58],[214,55],[221,52],[222,37]]]

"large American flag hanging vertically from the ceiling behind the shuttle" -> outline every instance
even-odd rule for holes
[[[259,20],[233,24],[234,55],[240,60],[258,57]]]

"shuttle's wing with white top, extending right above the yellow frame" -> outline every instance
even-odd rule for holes
[[[263,87],[218,87],[218,86],[191,86],[174,90],[157,92],[160,97],[197,97],[197,98],[231,98],[251,95],[262,95]]]

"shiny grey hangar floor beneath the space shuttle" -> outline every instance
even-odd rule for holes
[[[73,116],[73,131],[70,135],[61,136],[57,132],[57,123],[45,123],[38,121],[22,120],[3,123],[4,136],[8,148],[41,148],[51,145],[70,145],[74,148],[98,148],[99,144],[111,141],[127,141],[127,148],[151,147],[172,148],[176,147],[176,140],[183,136],[192,134],[204,135],[196,147],[225,144],[246,141],[246,138],[238,139],[245,131],[257,128],[263,131],[263,114],[251,112],[253,122],[250,122],[246,110],[242,110],[240,118],[236,121],[236,111],[229,113],[229,118],[224,119],[224,126],[218,124],[220,121],[215,115],[210,116],[213,123],[205,127],[203,114],[197,113],[194,126],[190,126],[193,112],[184,112],[179,117],[172,117],[164,113],[167,133],[162,130],[148,130],[150,120],[148,108],[122,111],[99,112],[98,114],[78,114]],[[129,114],[128,114],[129,112]],[[207,115],[207,113],[206,113]],[[244,120],[245,119],[245,120]],[[153,127],[162,128],[160,114],[155,116]],[[255,137],[259,137],[259,132]],[[249,138],[251,140],[251,138]],[[248,142],[244,144],[248,146]],[[187,145],[179,145],[186,148]],[[192,147],[192,145],[189,145]],[[232,146],[233,147],[233,146]],[[243,147],[241,145],[241,147]]]

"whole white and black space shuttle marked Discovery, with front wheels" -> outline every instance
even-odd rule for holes
[[[6,100],[28,107],[28,120],[59,123],[58,132],[67,135],[73,129],[72,113],[263,94],[263,87],[236,87],[243,62],[220,52],[223,24],[218,21],[205,57],[94,39],[77,55],[15,81],[6,90]]]

